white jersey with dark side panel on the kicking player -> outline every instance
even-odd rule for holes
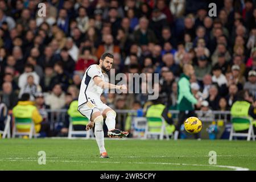
[[[88,97],[100,98],[103,92],[103,89],[94,83],[93,78],[96,76],[101,77],[102,80],[105,81],[104,75],[101,71],[100,66],[97,64],[90,65],[90,67],[86,69],[84,77],[82,78],[82,81],[81,81],[79,100],[78,100],[79,106],[88,102]]]

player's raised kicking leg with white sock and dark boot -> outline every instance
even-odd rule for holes
[[[118,138],[123,138],[123,137],[127,137],[127,135],[129,134],[127,131],[121,131],[118,129],[115,129],[115,117],[116,117],[116,113],[113,109],[111,109],[110,107],[107,107],[106,109],[104,109],[104,111],[102,112],[102,116],[104,118],[106,118],[106,126],[108,127],[108,136],[109,137],[118,137]]]

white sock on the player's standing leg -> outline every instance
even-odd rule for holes
[[[94,119],[95,128],[94,128],[94,135],[98,144],[98,148],[100,149],[100,153],[106,152],[105,145],[104,145],[104,131],[103,131],[103,117],[99,115],[97,118]]]

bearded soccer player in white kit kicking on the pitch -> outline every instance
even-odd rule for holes
[[[104,146],[103,119],[106,118],[109,137],[127,137],[127,131],[115,129],[115,111],[100,100],[104,89],[126,90],[125,85],[113,85],[104,81],[104,73],[109,72],[114,56],[111,53],[101,55],[100,64],[90,65],[82,78],[79,93],[79,112],[89,119],[86,130],[94,128],[94,135],[100,149],[100,158],[109,158]]]

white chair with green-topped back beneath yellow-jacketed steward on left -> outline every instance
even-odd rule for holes
[[[12,138],[24,135],[28,135],[28,138],[30,139],[39,136],[35,131],[35,125],[32,118],[14,118]]]

